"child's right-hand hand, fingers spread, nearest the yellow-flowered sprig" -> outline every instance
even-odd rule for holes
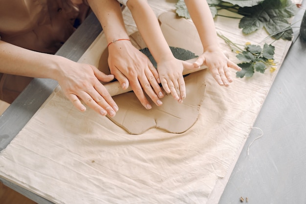
[[[230,61],[222,50],[209,50],[201,54],[197,61],[193,63],[195,68],[201,65],[206,65],[214,79],[218,82],[220,86],[228,87],[229,83],[233,82],[229,68],[233,68],[240,71],[241,68]]]

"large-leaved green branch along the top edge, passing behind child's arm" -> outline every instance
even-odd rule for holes
[[[296,14],[297,5],[291,0],[207,0],[207,3],[214,18],[222,16],[220,10],[242,15],[239,28],[244,34],[264,28],[269,35],[278,33],[272,36],[275,39],[292,40],[293,31],[288,19]],[[178,16],[190,18],[184,0],[178,0],[175,7]]]

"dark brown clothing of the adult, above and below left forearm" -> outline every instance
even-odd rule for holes
[[[0,0],[0,40],[54,54],[88,12],[83,0]],[[11,103],[30,80],[0,73],[0,99]]]

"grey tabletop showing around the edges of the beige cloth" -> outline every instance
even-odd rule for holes
[[[303,14],[304,10],[300,9],[294,21]],[[56,54],[78,61],[101,30],[91,14]],[[248,197],[250,204],[306,201],[306,42],[298,37],[298,32],[254,124],[263,136],[254,140],[262,132],[252,130],[219,204],[238,204],[240,197],[244,200]],[[50,79],[34,79],[0,116],[0,151],[36,113],[56,85]],[[52,204],[14,183],[1,181],[39,204]]]

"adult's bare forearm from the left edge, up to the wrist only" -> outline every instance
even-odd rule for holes
[[[31,51],[0,41],[0,72],[37,78],[55,78],[61,57]]]

